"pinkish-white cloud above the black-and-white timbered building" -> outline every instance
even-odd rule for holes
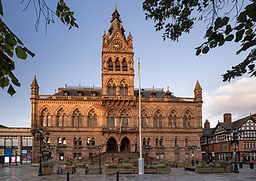
[[[256,77],[244,77],[217,90],[203,91],[203,123],[209,120],[212,128],[218,120],[223,122],[225,113],[232,114],[232,121],[256,113]]]

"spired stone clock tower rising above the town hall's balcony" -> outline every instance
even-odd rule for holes
[[[118,10],[102,36],[102,95],[134,95],[134,52],[132,36],[125,29]]]

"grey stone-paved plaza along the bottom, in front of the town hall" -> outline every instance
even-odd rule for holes
[[[57,168],[57,166],[55,166]],[[55,169],[54,168],[54,169]],[[250,169],[249,165],[244,165],[239,169],[240,173],[195,173],[185,171],[184,168],[172,168],[169,174],[120,174],[119,180],[256,180],[256,170]],[[60,175],[54,173],[38,176],[38,167],[29,165],[20,166],[0,166],[0,180],[66,180],[66,173]],[[116,180],[116,175],[106,175],[103,173],[88,173],[84,175],[84,169],[77,168],[77,172],[71,174],[69,180]]]

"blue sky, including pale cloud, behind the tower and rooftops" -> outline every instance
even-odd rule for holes
[[[0,90],[0,124],[8,127],[30,127],[30,84],[36,75],[40,95],[53,95],[67,86],[101,86],[102,35],[110,26],[111,14],[117,6],[126,37],[131,32],[134,45],[134,87],[138,88],[138,58],[142,88],[170,87],[177,97],[194,97],[199,80],[203,88],[203,123],[210,127],[223,122],[223,114],[231,113],[232,121],[256,113],[256,78],[244,75],[222,82],[221,75],[239,64],[248,54],[240,53],[239,44],[225,43],[207,55],[195,56],[195,49],[205,39],[205,23],[196,22],[190,34],[183,34],[179,42],[163,41],[163,31],[156,32],[154,21],[145,20],[142,3],[130,1],[66,0],[80,26],[63,25],[54,17],[54,24],[45,27],[40,20],[35,30],[36,13],[33,3],[24,11],[29,0],[8,0],[3,3],[3,21],[21,39],[26,48],[35,53],[26,61],[15,61],[15,76],[21,87],[11,97],[7,88]],[[57,0],[46,1],[55,11]],[[248,1],[247,1],[248,3]],[[47,31],[47,33],[46,33]]]

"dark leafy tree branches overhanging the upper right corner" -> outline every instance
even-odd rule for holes
[[[178,41],[183,32],[190,33],[196,19],[208,22],[205,32],[207,41],[195,48],[196,56],[207,54],[210,49],[223,46],[226,41],[241,44],[237,55],[242,51],[250,51],[244,61],[232,66],[231,70],[222,75],[223,82],[230,82],[230,79],[240,77],[246,72],[250,76],[256,76],[253,64],[256,58],[256,0],[246,3],[248,5],[244,8],[244,0],[145,0],[143,10],[146,11],[146,20],[153,19],[156,23],[156,31],[165,30],[164,41]],[[223,12],[225,7],[228,10]],[[192,16],[192,13],[198,16]],[[232,16],[233,13],[235,15]],[[230,17],[235,20],[232,25]]]

